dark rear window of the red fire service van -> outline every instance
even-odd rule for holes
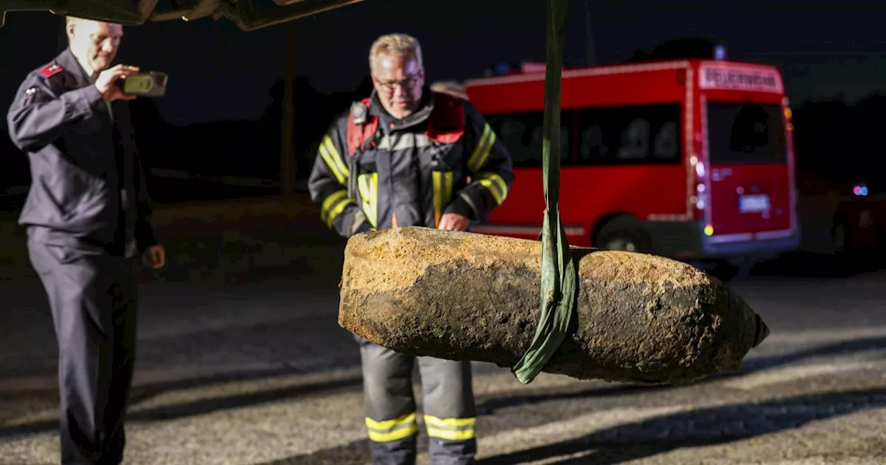
[[[786,163],[780,105],[709,102],[711,163]]]

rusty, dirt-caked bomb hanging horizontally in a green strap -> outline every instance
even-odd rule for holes
[[[735,371],[768,334],[716,278],[654,255],[573,248],[576,318],[544,371],[686,384]],[[513,367],[540,315],[538,241],[424,228],[351,237],[339,325],[393,350]]]

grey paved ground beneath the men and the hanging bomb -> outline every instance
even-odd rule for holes
[[[282,276],[170,271],[144,283],[128,463],[365,463],[359,360],[336,324],[339,254],[296,245],[280,254],[295,264]],[[733,284],[773,329],[734,376],[524,386],[477,364],[481,463],[883,463],[886,272],[777,271]],[[0,286],[0,463],[53,463],[45,298],[33,280]]]

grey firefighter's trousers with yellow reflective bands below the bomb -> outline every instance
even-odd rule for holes
[[[416,357],[358,339],[369,447],[377,465],[416,462],[417,413],[412,391]],[[473,464],[477,407],[470,361],[417,357],[424,427],[432,465]]]

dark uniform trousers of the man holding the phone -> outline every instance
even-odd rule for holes
[[[63,465],[117,465],[136,358],[131,258],[29,240],[58,341]]]

